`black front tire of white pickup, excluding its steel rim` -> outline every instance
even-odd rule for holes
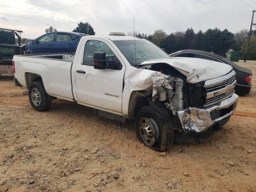
[[[158,127],[158,140],[155,140],[152,146],[144,142],[142,134],[140,133],[140,122],[143,118],[148,118],[150,122],[154,120]],[[154,123],[152,123],[153,125]],[[154,126],[154,125],[153,125]],[[154,126],[155,128],[155,126]],[[163,152],[169,150],[174,141],[174,131],[171,119],[163,119],[162,116],[154,110],[151,106],[142,107],[136,116],[135,120],[136,135],[140,142],[152,150]]]

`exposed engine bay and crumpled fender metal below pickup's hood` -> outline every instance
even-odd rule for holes
[[[175,115],[178,111],[188,107],[202,107],[206,102],[204,82],[188,83],[186,76],[165,63],[152,64],[150,70],[157,71],[151,75],[153,83],[152,101],[169,102],[165,105]]]

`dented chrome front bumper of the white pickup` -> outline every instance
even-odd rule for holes
[[[204,132],[214,124],[231,116],[238,103],[238,95],[233,94],[230,98],[206,109],[189,108],[178,112],[178,117],[185,132]]]

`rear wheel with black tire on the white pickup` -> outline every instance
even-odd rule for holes
[[[35,93],[39,95],[38,98],[40,98],[40,101],[36,101],[32,96],[33,94],[35,96]],[[35,81],[30,85],[28,90],[28,97],[31,106],[37,111],[48,110],[52,104],[52,100],[50,100],[49,95],[46,93],[44,85],[41,81]]]

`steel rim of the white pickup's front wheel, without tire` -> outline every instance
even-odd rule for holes
[[[153,123],[155,126],[153,126],[152,122],[154,122],[153,119],[146,117],[140,120],[140,136],[147,146],[154,145],[158,140],[158,127],[156,122]]]

